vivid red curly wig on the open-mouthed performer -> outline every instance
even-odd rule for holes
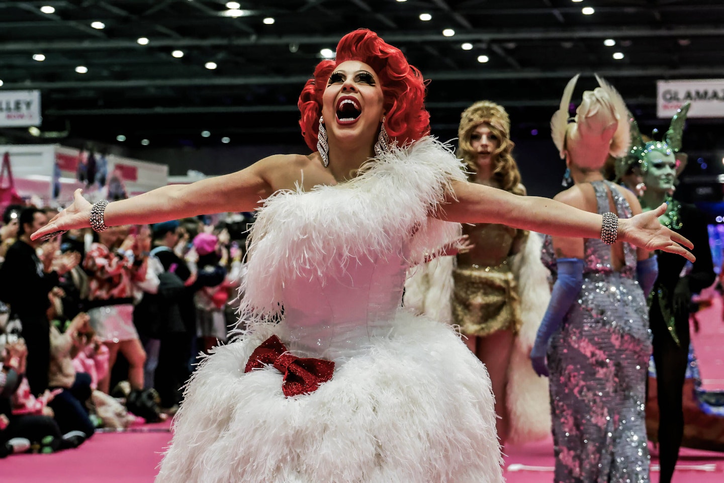
[[[368,29],[348,33],[337,44],[335,60],[317,64],[314,77],[307,81],[297,103],[299,125],[307,146],[316,151],[322,94],[334,67],[348,60],[364,62],[379,77],[384,96],[385,128],[392,140],[404,145],[430,132],[430,114],[425,110],[425,82],[405,55]]]

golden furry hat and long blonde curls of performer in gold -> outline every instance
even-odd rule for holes
[[[491,101],[478,101],[460,114],[458,156],[468,165],[468,178],[473,180],[478,170],[477,154],[473,151],[470,138],[473,131],[481,124],[487,124],[500,141],[500,146],[493,153],[495,163],[493,177],[500,184],[500,188],[506,191],[517,190],[521,184],[521,172],[518,171],[518,164],[510,154],[515,146],[510,140],[510,117],[502,106]]]

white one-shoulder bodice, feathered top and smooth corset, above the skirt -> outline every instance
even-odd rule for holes
[[[406,270],[460,233],[430,215],[465,180],[461,168],[450,148],[422,138],[348,182],[267,198],[241,287],[247,329],[281,320],[275,329],[295,355],[334,361],[390,335]]]

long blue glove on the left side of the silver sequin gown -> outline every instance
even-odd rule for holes
[[[548,368],[545,355],[548,352],[548,343],[553,333],[563,324],[563,317],[568,314],[573,302],[581,293],[584,280],[584,261],[581,259],[556,259],[558,278],[553,284],[550,302],[538,327],[536,343],[531,350],[531,363],[533,370],[539,376],[548,377]]]

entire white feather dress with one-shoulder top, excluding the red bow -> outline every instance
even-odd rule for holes
[[[400,306],[406,270],[458,234],[429,214],[460,168],[423,138],[350,182],[266,201],[248,330],[193,374],[157,483],[502,482],[487,371],[449,326]],[[335,361],[332,379],[285,398],[277,369],[245,373],[271,335]]]

